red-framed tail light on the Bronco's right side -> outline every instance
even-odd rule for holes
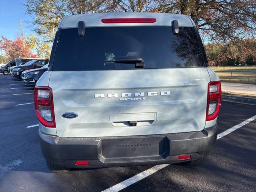
[[[221,85],[220,81],[208,83],[206,121],[214,120],[220,113]]]

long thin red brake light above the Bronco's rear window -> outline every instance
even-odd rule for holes
[[[118,19],[102,19],[102,23],[154,23],[155,18],[118,18]]]

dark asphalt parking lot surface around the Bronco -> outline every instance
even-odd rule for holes
[[[0,191],[102,191],[152,166],[51,173],[38,140],[33,90],[0,74]],[[256,106],[223,101],[218,133],[256,115]],[[33,126],[34,125],[34,126]],[[122,191],[255,191],[256,120],[216,142],[214,154],[198,166],[168,165]]]

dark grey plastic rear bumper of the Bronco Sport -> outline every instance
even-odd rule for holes
[[[189,160],[210,155],[214,151],[217,124],[196,132],[124,136],[106,138],[60,138],[39,130],[40,145],[46,161],[69,168],[142,166],[178,163],[181,154]],[[75,165],[88,160],[90,165]]]

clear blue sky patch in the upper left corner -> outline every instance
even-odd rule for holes
[[[14,40],[20,35],[19,19],[22,22],[22,30],[25,36],[28,36],[33,29],[29,21],[31,16],[25,14],[22,3],[26,0],[0,0],[0,36]]]

